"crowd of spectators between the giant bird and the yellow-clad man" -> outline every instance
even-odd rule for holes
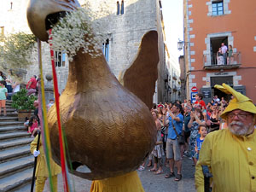
[[[206,104],[201,93],[195,96],[194,103],[184,100],[154,104],[151,112],[157,127],[157,142],[148,156],[147,166],[153,166],[149,171],[161,174],[162,166],[168,166],[170,172],[165,177],[175,177],[175,181],[180,181],[183,157],[187,156],[195,166],[207,133],[227,128],[224,119],[220,118],[227,106],[228,101],[218,96],[213,96],[212,101]],[[139,171],[145,169],[145,163]],[[177,166],[177,173],[174,172],[174,165]]]

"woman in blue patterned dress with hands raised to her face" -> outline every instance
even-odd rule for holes
[[[190,120],[188,127],[190,129],[190,137],[189,137],[189,156],[192,157],[192,160],[194,161],[194,165],[196,165],[196,153],[195,153],[195,143],[197,137],[199,137],[198,134],[198,127],[200,125],[205,125],[206,122],[204,121],[204,116],[201,112],[200,108],[195,108],[195,111],[192,111],[190,113]]]

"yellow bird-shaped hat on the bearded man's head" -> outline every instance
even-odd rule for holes
[[[228,84],[222,84],[222,86],[215,84],[214,88],[221,90],[226,94],[232,94],[234,96],[234,98],[230,101],[228,107],[220,115],[221,118],[227,119],[227,113],[235,109],[241,109],[242,111],[256,114],[256,107],[253,104],[253,101],[247,96],[244,96],[231,88]]]

